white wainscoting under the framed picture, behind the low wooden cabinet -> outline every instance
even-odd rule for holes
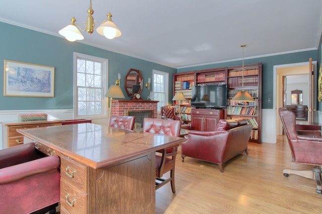
[[[48,120],[73,119],[73,109],[43,109],[43,110],[14,110],[0,111],[0,122],[17,121],[19,114],[47,114]],[[107,125],[108,118],[92,119],[92,123]],[[0,149],[3,149],[3,125],[0,125]]]

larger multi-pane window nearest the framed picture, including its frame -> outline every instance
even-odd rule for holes
[[[106,117],[108,59],[74,53],[74,118]]]

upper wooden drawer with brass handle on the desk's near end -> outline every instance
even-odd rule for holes
[[[88,192],[86,188],[88,183],[88,167],[65,156],[60,157],[60,163],[61,178],[83,192]]]

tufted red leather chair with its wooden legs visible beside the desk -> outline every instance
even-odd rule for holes
[[[181,128],[180,120],[163,120],[144,118],[143,133],[163,134],[168,136],[179,136]],[[155,155],[155,189],[158,189],[168,182],[171,182],[171,189],[176,193],[175,187],[175,165],[178,154],[178,146],[156,151]],[[161,155],[158,155],[161,154]],[[166,172],[170,171],[169,178],[163,178]]]

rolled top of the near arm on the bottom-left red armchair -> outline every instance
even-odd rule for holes
[[[13,182],[31,175],[47,171],[58,170],[59,166],[59,157],[54,155],[18,164],[15,166],[6,167],[0,169],[0,184]]]

